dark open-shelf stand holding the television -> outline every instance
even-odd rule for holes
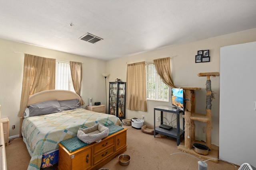
[[[167,136],[170,136],[170,137],[174,137],[177,139],[177,146],[180,145],[180,139],[181,137],[183,136],[184,137],[184,125],[185,125],[185,119],[183,118],[183,130],[180,129],[180,113],[183,113],[184,115],[184,112],[181,111],[181,110],[177,110],[177,111],[174,111],[172,109],[173,107],[170,107],[170,106],[157,106],[157,107],[154,107],[154,137],[156,137],[156,133],[160,133],[160,134],[163,134],[163,135],[167,135]],[[163,128],[160,128],[160,127],[156,127],[156,110],[158,111],[161,111],[161,125],[163,125],[163,112],[169,112],[169,113],[176,113],[176,116],[177,116],[177,127],[176,128],[172,128],[170,130],[166,130],[166,129],[163,129]],[[160,125],[160,126],[161,126]]]

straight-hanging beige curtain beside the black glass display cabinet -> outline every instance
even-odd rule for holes
[[[127,66],[126,108],[147,111],[145,62]]]

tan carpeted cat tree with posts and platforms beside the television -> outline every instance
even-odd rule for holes
[[[200,158],[204,158],[206,160],[210,159],[212,162],[218,163],[218,155],[219,155],[219,147],[216,145],[211,145],[211,131],[212,131],[212,113],[211,113],[211,101],[214,98],[211,89],[211,80],[210,76],[219,76],[219,72],[204,72],[198,73],[199,77],[206,76],[206,114],[195,113],[195,105],[196,99],[194,96],[195,90],[200,90],[201,88],[183,88],[185,89],[185,97],[186,97],[186,106],[184,115],[182,115],[185,119],[185,134],[184,134],[184,143],[182,142],[178,149],[189,153],[194,154],[196,156],[200,156]],[[208,155],[202,155],[196,153],[193,149],[191,149],[194,143],[202,143],[202,141],[195,140],[195,124],[194,121],[200,121],[206,123],[205,134],[206,134],[206,146],[210,148],[210,152]],[[204,143],[203,143],[204,144]]]

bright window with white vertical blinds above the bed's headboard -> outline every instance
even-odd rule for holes
[[[56,61],[55,89],[75,92],[71,79],[70,65],[67,62]]]

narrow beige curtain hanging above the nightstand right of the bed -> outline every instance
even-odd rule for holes
[[[82,63],[70,61],[70,70],[73,86],[76,94],[80,96],[80,89],[82,85]],[[84,101],[81,98],[80,105],[84,105]]]

